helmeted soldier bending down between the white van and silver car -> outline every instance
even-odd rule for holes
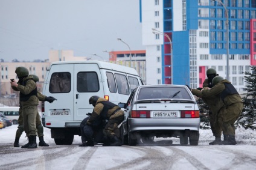
[[[114,103],[98,96],[90,97],[89,104],[94,106],[94,110],[92,111],[92,115],[88,119],[87,124],[91,125],[98,119],[108,120],[103,133],[105,136],[107,136],[107,141],[109,141],[109,144],[106,142],[103,145],[123,145],[122,141],[118,138],[121,137],[118,125],[123,123],[124,111],[122,111],[121,108]]]

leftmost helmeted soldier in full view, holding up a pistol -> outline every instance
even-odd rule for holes
[[[24,120],[24,131],[28,137],[28,148],[37,148],[36,144],[36,114],[39,100],[37,98],[36,82],[33,76],[28,76],[26,67],[17,67],[15,70],[19,81],[11,80],[13,90],[19,91],[19,102],[22,107],[22,115]]]

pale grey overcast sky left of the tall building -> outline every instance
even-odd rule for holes
[[[51,49],[107,59],[103,50],[144,50],[138,0],[0,1],[0,59],[48,59]]]

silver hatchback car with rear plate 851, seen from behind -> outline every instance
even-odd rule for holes
[[[199,108],[184,85],[141,85],[133,90],[124,108],[124,144],[147,143],[175,137],[180,144],[198,145]]]

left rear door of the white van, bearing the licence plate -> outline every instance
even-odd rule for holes
[[[53,64],[46,74],[45,96],[53,96],[53,103],[45,102],[46,121],[74,120],[74,64]],[[52,126],[57,126],[52,124]]]

